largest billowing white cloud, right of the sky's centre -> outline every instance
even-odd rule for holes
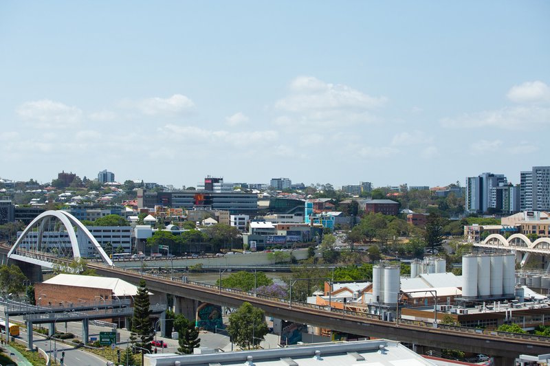
[[[284,115],[274,119],[282,126],[338,128],[373,124],[380,119],[371,112],[384,106],[385,97],[372,97],[343,84],[330,84],[311,76],[299,76],[290,83],[290,93],[275,103]]]

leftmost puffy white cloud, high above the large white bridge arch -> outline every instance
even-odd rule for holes
[[[48,99],[25,102],[16,112],[36,128],[67,128],[79,124],[83,117],[83,112],[76,106]]]

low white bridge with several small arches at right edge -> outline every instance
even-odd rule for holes
[[[538,238],[531,241],[527,236],[516,233],[505,238],[500,234],[491,234],[483,242],[474,243],[474,247],[483,247],[491,249],[500,249],[523,253],[521,266],[529,260],[531,254],[544,255],[550,258],[550,238]],[[550,262],[549,262],[550,266]]]

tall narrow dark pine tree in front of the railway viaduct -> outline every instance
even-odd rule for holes
[[[139,341],[135,345],[149,351],[151,351],[151,341],[153,341],[153,325],[149,319],[150,305],[145,280],[141,279],[140,285],[137,287],[137,295],[134,297],[132,332],[139,337]]]

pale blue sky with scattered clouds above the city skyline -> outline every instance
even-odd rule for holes
[[[549,1],[1,1],[0,177],[448,185],[550,165]]]

